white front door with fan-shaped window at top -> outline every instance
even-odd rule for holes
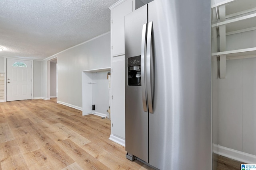
[[[7,59],[6,100],[28,100],[32,97],[32,62]]]

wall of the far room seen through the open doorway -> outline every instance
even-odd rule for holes
[[[50,97],[56,97],[57,63],[50,62]]]

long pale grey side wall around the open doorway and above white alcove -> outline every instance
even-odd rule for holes
[[[57,56],[58,101],[82,107],[82,70],[110,67],[110,33],[64,50],[49,59]],[[43,98],[48,98],[47,74],[46,59],[42,61]]]

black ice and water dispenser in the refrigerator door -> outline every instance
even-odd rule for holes
[[[128,86],[141,86],[140,56],[128,58]]]

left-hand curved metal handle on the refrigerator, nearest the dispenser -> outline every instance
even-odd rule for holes
[[[144,111],[148,111],[147,107],[147,93],[146,93],[146,34],[147,34],[147,24],[142,26],[142,38],[141,38],[141,55],[140,55],[140,69],[141,69],[141,87],[142,87],[142,103]]]

